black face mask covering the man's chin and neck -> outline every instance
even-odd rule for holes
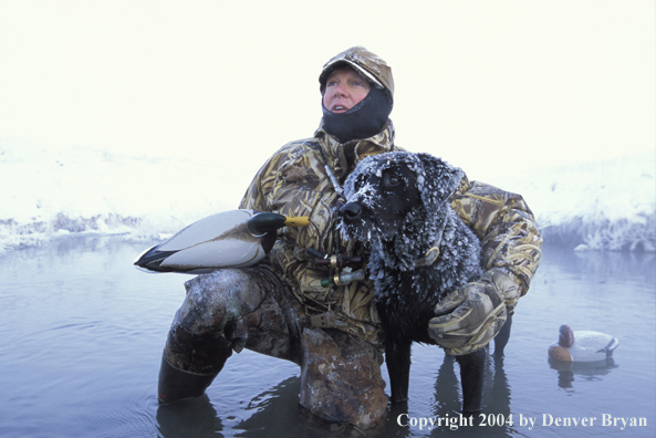
[[[376,135],[392,113],[392,100],[385,90],[372,86],[366,97],[345,113],[331,113],[323,106],[323,127],[340,143]]]

